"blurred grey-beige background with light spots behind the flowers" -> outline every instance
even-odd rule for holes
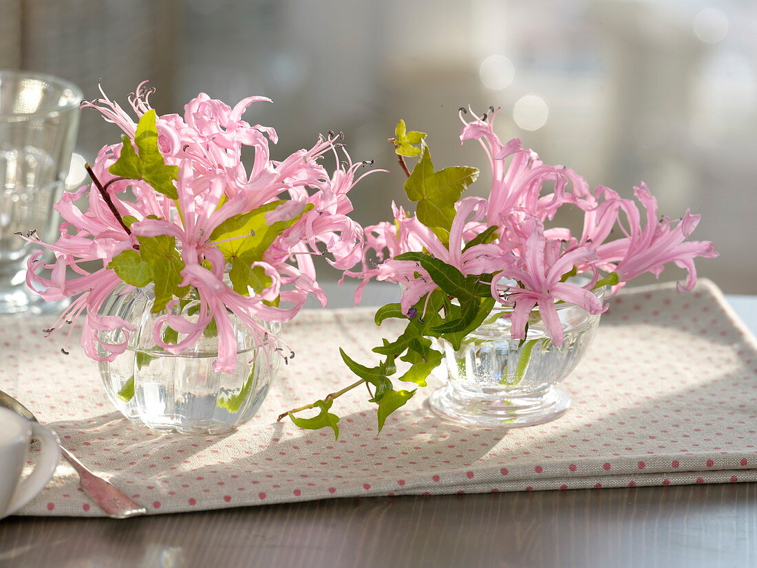
[[[757,293],[755,62],[757,3],[744,0],[0,3],[0,67],[64,77],[90,99],[101,78],[122,104],[150,79],[159,113],[201,91],[231,105],[266,95],[275,104],[245,119],[277,129],[273,157],[344,131],[354,160],[391,169],[350,194],[364,224],[406,203],[386,141],[397,119],[428,132],[438,169],[483,169],[477,144],[459,146],[456,111],[500,106],[500,138],[545,162],[628,196],[643,180],[674,219],[702,213],[693,238],[721,256],[699,274],[730,293]],[[84,111],[79,160],[117,137]],[[470,191],[487,183],[484,170]]]

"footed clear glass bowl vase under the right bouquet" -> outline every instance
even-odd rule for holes
[[[595,290],[598,297],[604,290]],[[570,407],[556,384],[567,377],[586,353],[600,323],[599,315],[558,303],[565,339],[552,343],[539,316],[531,312],[525,340],[510,339],[510,309],[497,306],[460,349],[438,340],[444,352],[440,366],[447,384],[431,394],[431,409],[447,420],[509,428],[553,421]]]

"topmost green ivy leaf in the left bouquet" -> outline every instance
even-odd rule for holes
[[[139,155],[134,151],[131,139],[123,135],[121,155],[107,171],[123,178],[143,179],[158,193],[178,199],[179,194],[173,180],[178,178],[179,166],[167,166],[163,154],[160,154],[155,119],[154,109],[148,110],[139,119],[134,134],[134,143]]]

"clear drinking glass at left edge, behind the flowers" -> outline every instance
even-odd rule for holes
[[[0,70],[0,313],[44,305],[22,285],[33,248],[17,233],[55,240],[82,96],[57,77]]]

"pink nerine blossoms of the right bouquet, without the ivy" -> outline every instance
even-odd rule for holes
[[[393,204],[394,222],[381,222],[366,228],[363,268],[345,275],[362,278],[356,301],[372,278],[403,285],[403,312],[417,303],[436,284],[418,262],[394,257],[425,249],[432,256],[458,268],[463,275],[494,275],[494,298],[512,308],[512,338],[524,339],[531,311],[538,307],[547,332],[556,345],[563,340],[562,326],[555,303],[572,303],[598,314],[606,309],[591,291],[600,271],[615,272],[617,291],[626,282],[651,272],[659,275],[673,262],[688,272],[679,289],[696,284],[697,256],[718,253],[709,241],[686,241],[699,222],[699,216],[686,212],[672,224],[658,218],[656,199],[646,185],[634,188],[637,203],[621,198],[609,188],[590,191],[584,178],[563,166],[548,166],[537,154],[525,149],[517,138],[506,144],[494,134],[496,110],[484,116],[463,120],[461,143],[477,140],[491,166],[492,185],[488,199],[465,197],[456,203],[456,216],[450,231],[449,247],[414,216]],[[545,228],[557,211],[567,205],[584,213],[584,229],[574,236],[568,228]],[[646,218],[646,219],[645,219]],[[490,244],[466,244],[487,228],[496,228]],[[618,238],[611,240],[613,229]],[[585,273],[585,284],[565,281],[574,270]]]

